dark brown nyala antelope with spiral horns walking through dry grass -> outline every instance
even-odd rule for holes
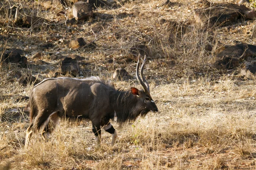
[[[134,121],[139,115],[149,111],[157,112],[150,93],[148,82],[143,77],[146,57],[140,69],[140,57],[136,68],[136,77],[143,90],[132,87],[130,91],[116,90],[111,82],[99,77],[86,79],[49,78],[32,88],[26,110],[30,114],[31,124],[26,130],[26,142],[33,133],[41,132],[44,139],[49,136],[59,122],[59,117],[67,119],[90,119],[93,133],[100,144],[101,129],[112,134],[111,145],[116,141],[116,130],[109,122],[114,116],[122,125]]]

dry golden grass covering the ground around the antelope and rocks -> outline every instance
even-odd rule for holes
[[[13,25],[12,16],[0,15],[2,53],[6,48],[21,48],[29,60],[28,68],[0,65],[0,170],[256,169],[256,83],[239,77],[235,70],[212,67],[221,46],[233,45],[237,39],[255,43],[248,35],[253,22],[237,23],[229,30],[206,30],[193,20],[192,11],[198,8],[195,1],[181,1],[169,8],[157,7],[160,3],[130,0],[118,8],[99,8],[92,20],[74,26],[58,23],[72,16],[71,8],[59,3],[46,10],[39,1],[22,1],[21,14],[35,14],[55,23],[46,27],[20,28]],[[8,13],[7,7],[2,9],[0,12]],[[66,12],[66,17],[56,16],[60,10]],[[180,32],[168,23],[160,24],[161,18],[188,24],[189,31]],[[104,29],[93,31],[99,24]],[[96,42],[96,49],[67,48],[76,37]],[[53,47],[41,48],[47,43]],[[64,56],[75,53],[85,57],[79,63],[83,77],[98,75],[110,79],[120,67],[135,76],[136,62],[126,63],[122,59],[134,59],[129,49],[137,44],[150,48],[145,75],[151,96],[157,100],[158,113],[148,113],[122,128],[113,122],[118,132],[114,147],[110,147],[111,135],[105,131],[101,147],[96,146],[90,122],[61,121],[48,141],[34,136],[31,145],[24,148],[29,117],[23,112],[26,102],[16,99],[29,96],[32,85],[20,85],[12,72],[33,74],[40,80],[52,77],[58,62],[49,56],[60,52]],[[209,44],[213,47],[211,52],[205,50]],[[35,65],[30,57],[38,51],[50,65]],[[113,63],[106,59],[113,59]],[[166,64],[173,61],[174,65]],[[186,68],[195,75],[188,77]],[[135,79],[114,83],[117,88],[138,87]]]

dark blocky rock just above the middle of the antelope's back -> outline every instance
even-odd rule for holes
[[[69,57],[62,60],[60,62],[60,66],[61,66],[61,74],[71,74],[73,76],[76,76],[80,71],[80,68],[76,59],[72,59]]]

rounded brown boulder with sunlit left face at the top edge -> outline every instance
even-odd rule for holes
[[[73,5],[73,16],[76,20],[87,20],[88,18],[93,17],[93,8],[87,2],[76,2]]]

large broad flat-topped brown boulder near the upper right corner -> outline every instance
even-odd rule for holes
[[[239,19],[245,13],[244,9],[234,3],[214,3],[210,7],[195,10],[195,21],[197,23],[214,26],[225,26]]]

